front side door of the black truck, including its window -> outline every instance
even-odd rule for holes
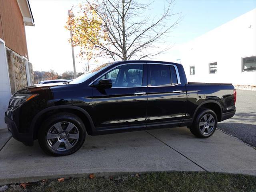
[[[136,126],[142,130],[146,128],[147,71],[146,64],[139,65],[127,64],[116,70],[117,74],[109,72],[112,75],[103,76],[116,78],[115,82],[112,82],[112,88],[93,88],[94,122],[98,131],[125,131]]]

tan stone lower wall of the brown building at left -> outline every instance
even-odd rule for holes
[[[22,88],[28,86],[27,74],[26,74],[26,60],[16,52],[6,48],[6,55],[8,61],[8,70],[11,84],[12,94]],[[28,69],[30,74],[31,85],[34,84],[34,72],[32,64],[28,63]]]

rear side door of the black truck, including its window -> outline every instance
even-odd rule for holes
[[[178,126],[185,115],[184,94],[174,67],[149,64],[147,128]]]

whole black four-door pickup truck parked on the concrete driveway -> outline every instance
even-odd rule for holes
[[[19,90],[5,122],[12,136],[48,154],[76,152],[89,135],[187,126],[210,137],[236,112],[232,84],[189,83],[181,64],[106,63],[71,82]]]

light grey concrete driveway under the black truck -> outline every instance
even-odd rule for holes
[[[256,150],[220,130],[198,139],[185,128],[87,136],[70,156],[47,156],[35,142],[11,138],[0,151],[0,185],[44,178],[150,171],[208,171],[256,175]]]

